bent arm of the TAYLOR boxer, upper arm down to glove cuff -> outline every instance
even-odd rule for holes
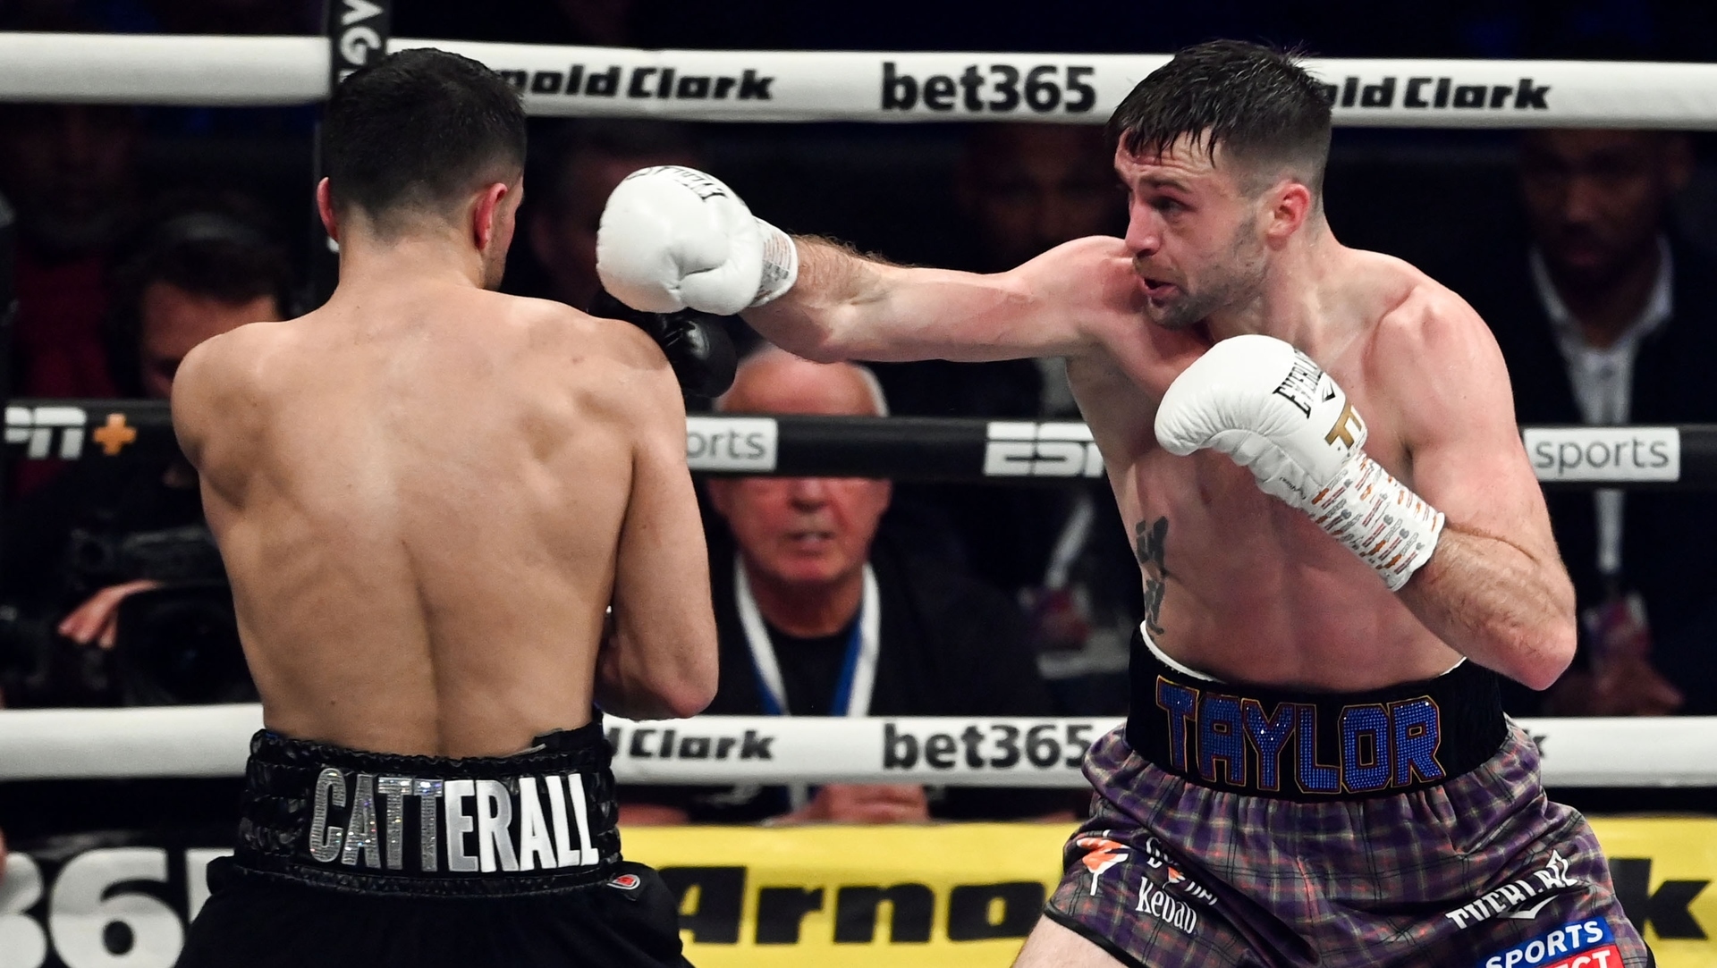
[[[1574,654],[1574,589],[1514,426],[1502,354],[1458,300],[1382,326],[1377,386],[1403,427],[1413,489],[1447,515],[1401,601],[1478,664],[1549,688]]]

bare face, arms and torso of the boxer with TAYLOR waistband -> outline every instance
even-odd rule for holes
[[[1068,357],[1133,530],[1144,620],[1195,669],[1363,690],[1435,676],[1465,654],[1549,685],[1573,650],[1573,590],[1489,330],[1410,264],[1339,245],[1320,213],[1291,245],[1265,245],[1257,293],[1174,319],[1176,300],[1228,271],[1240,220],[1259,218],[1216,158],[1118,154],[1126,240],[1068,242],[991,276],[800,240],[797,285],[745,316],[812,359]],[[1437,554],[1399,594],[1226,455],[1157,445],[1169,383],[1212,338],[1241,331],[1320,364],[1365,417],[1367,453],[1447,515]]]

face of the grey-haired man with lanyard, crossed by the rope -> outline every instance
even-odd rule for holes
[[[858,372],[786,354],[752,360],[723,398],[726,412],[874,415]],[[826,587],[871,558],[889,482],[867,477],[733,477],[709,481],[754,573],[783,585]]]

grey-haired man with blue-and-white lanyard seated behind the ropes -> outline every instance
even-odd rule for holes
[[[718,408],[738,414],[888,415],[876,376],[764,347]],[[709,481],[731,544],[711,534],[721,687],[730,716],[1047,716],[1018,609],[994,589],[877,537],[888,481]],[[1063,791],[917,784],[622,791],[627,824],[785,819],[891,824],[1063,810]]]

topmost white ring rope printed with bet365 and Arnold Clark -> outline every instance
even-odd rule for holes
[[[1102,124],[1166,55],[689,51],[393,38],[507,72],[534,115],[711,122]],[[362,51],[355,51],[362,53]],[[1717,65],[1312,58],[1336,124],[1717,129]],[[0,101],[294,105],[328,96],[319,36],[0,33]]]

